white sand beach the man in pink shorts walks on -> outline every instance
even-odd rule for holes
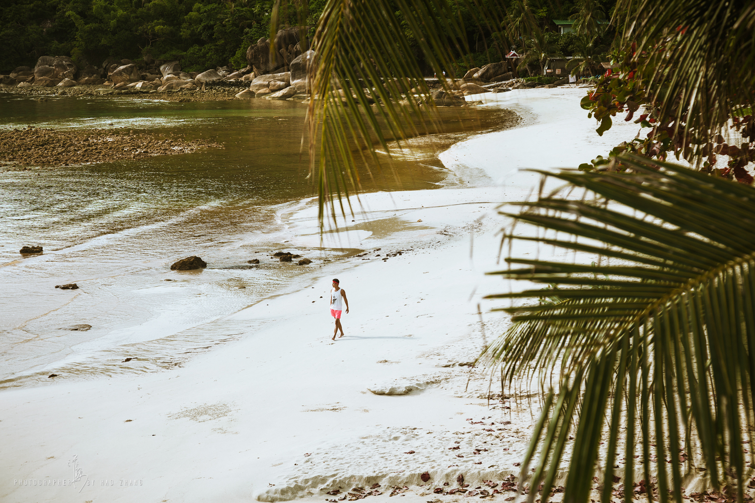
[[[443,152],[455,186],[362,195],[355,222],[324,241],[366,254],[213,321],[228,342],[170,355],[170,369],[0,391],[0,500],[323,501],[380,484],[374,498],[406,486],[397,496],[427,501],[459,475],[473,486],[518,475],[537,397],[500,400],[489,370],[467,363],[507,326],[482,297],[510,288],[484,273],[500,267],[496,207],[538,182],[520,170],[575,167],[639,128],[618,120],[597,136],[584,92],[469,97],[525,120]],[[289,246],[320,245],[316,212],[308,200],[279,213]],[[178,289],[195,276],[171,278]],[[350,305],[335,342],[331,278]],[[152,281],[143,287],[165,285]],[[145,339],[161,327],[151,330]],[[112,354],[137,370],[138,356]]]

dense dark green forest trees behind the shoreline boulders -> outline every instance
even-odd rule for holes
[[[393,12],[404,20],[399,2]],[[99,64],[107,57],[130,60],[180,60],[184,69],[246,65],[249,44],[270,33],[275,0],[8,0],[0,10],[0,72],[34,66],[40,56],[70,56]],[[314,26],[327,0],[280,2],[279,24]],[[575,35],[558,35],[553,19],[580,16],[584,5],[612,10],[615,0],[479,0],[449,2],[464,26],[458,44],[457,72],[500,61],[512,47],[523,48],[521,34],[510,36],[508,13],[525,8],[535,25],[550,32],[558,54],[575,55]],[[404,20],[405,21],[405,20]],[[406,28],[406,23],[402,23]],[[411,30],[406,30],[410,32]],[[408,33],[411,40],[411,33]],[[419,44],[412,50],[421,66],[430,66]]]

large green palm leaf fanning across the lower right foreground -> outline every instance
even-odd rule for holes
[[[594,198],[541,195],[503,213],[546,231],[509,232],[513,243],[600,257],[584,266],[510,256],[510,268],[491,273],[551,286],[489,298],[556,298],[502,308],[513,325],[481,357],[501,366],[508,385],[532,377],[531,366],[541,371],[546,406],[519,484],[532,475],[547,501],[571,450],[564,501],[588,501],[596,470],[602,501],[617,473],[630,501],[636,455],[640,478],[657,477],[660,501],[671,491],[680,502],[694,467],[716,488],[734,483],[741,498],[742,442],[755,428],[755,189],[647,158],[621,161],[636,174],[543,172]]]

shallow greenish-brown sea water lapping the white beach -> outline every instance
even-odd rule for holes
[[[0,167],[0,388],[49,383],[49,373],[94,378],[180,364],[180,355],[251,330],[224,316],[309,284],[328,262],[359,253],[296,250],[317,259],[307,268],[270,259],[286,249],[280,214],[315,195],[300,155],[305,114],[301,103],[275,100],[0,97],[0,127],[125,127],[224,146],[105,164]],[[445,133],[405,143],[394,163],[399,179],[372,167],[362,189],[456,183],[437,155],[470,134],[505,127],[507,118],[470,108],[443,109],[440,120]],[[23,245],[45,253],[22,257]],[[190,255],[208,268],[170,271]],[[262,263],[248,265],[253,258]],[[66,283],[80,288],[54,288]],[[60,330],[82,323],[92,329]]]

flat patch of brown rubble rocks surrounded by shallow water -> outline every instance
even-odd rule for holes
[[[163,136],[146,130],[90,129],[54,130],[40,127],[0,130],[0,165],[11,169],[25,165],[67,166],[153,155],[196,152],[223,148],[217,143],[185,140],[178,135]],[[23,168],[22,168],[23,169]]]

